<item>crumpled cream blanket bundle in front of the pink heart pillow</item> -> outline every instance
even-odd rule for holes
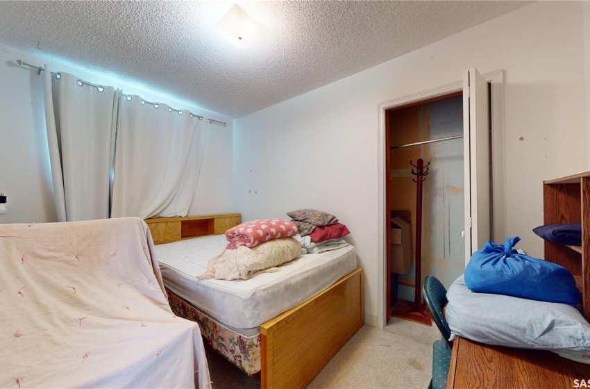
[[[260,272],[277,272],[278,265],[301,255],[301,244],[294,238],[277,238],[250,249],[239,246],[225,249],[209,260],[208,270],[200,279],[249,279]]]

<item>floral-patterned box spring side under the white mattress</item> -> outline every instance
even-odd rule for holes
[[[166,289],[166,292],[172,312],[197,322],[201,334],[215,351],[248,374],[260,372],[260,333],[255,336],[240,335],[194,308],[169,289]]]

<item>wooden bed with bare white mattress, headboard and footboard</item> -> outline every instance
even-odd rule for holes
[[[198,280],[206,260],[227,243],[214,235],[239,224],[240,215],[146,222],[172,310],[198,322],[210,345],[244,372],[260,376],[262,388],[304,388],[363,324],[362,269],[356,267],[354,247],[308,254],[247,281]],[[192,239],[199,236],[204,238]],[[203,257],[187,260],[191,252]],[[308,295],[297,288],[301,283]]]

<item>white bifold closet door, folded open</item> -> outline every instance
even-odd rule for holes
[[[463,76],[465,263],[491,238],[489,110],[487,81],[471,67]]]

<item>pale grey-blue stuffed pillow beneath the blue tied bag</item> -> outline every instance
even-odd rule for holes
[[[588,361],[590,324],[566,304],[472,292],[460,276],[446,294],[450,340],[457,336],[488,345],[545,349]],[[586,362],[588,363],[588,362]]]

